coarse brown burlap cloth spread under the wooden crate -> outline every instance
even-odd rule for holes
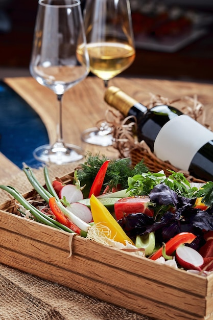
[[[50,177],[64,176],[72,172],[75,167],[76,164],[51,165]],[[34,169],[34,173],[43,184],[43,170]],[[10,181],[1,181],[1,184],[11,185],[21,193],[32,189],[23,172]],[[7,194],[2,190],[0,200],[1,202],[8,200]],[[0,299],[1,320],[150,319],[2,264],[0,264]]]

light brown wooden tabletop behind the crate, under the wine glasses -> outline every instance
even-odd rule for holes
[[[50,141],[54,142],[58,112],[55,94],[31,77],[6,78],[4,81],[36,110],[48,130]],[[116,77],[110,81],[110,85],[120,87],[127,94],[145,104],[150,101],[150,93],[169,99],[198,95],[199,101],[207,110],[206,122],[213,128],[213,120],[211,121],[213,119],[212,84]],[[100,152],[109,157],[117,157],[118,153],[113,147],[99,147],[81,141],[81,132],[96,125],[97,121],[105,117],[107,106],[103,96],[103,82],[96,77],[87,77],[65,93],[63,99],[64,141],[81,146],[85,152],[90,151],[92,154]],[[20,171],[1,153],[0,161],[1,179],[9,179],[10,176]]]

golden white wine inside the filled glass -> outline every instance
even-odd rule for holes
[[[90,71],[103,80],[109,80],[124,71],[135,58],[135,49],[119,42],[92,42],[86,45]],[[81,61],[81,45],[77,49],[77,57]]]

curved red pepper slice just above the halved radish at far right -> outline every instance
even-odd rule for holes
[[[165,243],[165,253],[167,256],[171,256],[173,252],[184,243],[191,243],[195,240],[196,236],[190,232],[181,232],[174,236],[172,239]],[[162,256],[162,247],[158,249],[150,259],[156,260]]]

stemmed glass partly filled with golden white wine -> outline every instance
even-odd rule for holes
[[[128,68],[135,58],[129,0],[87,0],[84,27],[90,71],[108,81]],[[82,56],[81,46],[78,55]],[[81,58],[79,58],[81,60]],[[112,128],[100,121],[94,128],[82,133],[82,140],[100,146],[112,144]]]

